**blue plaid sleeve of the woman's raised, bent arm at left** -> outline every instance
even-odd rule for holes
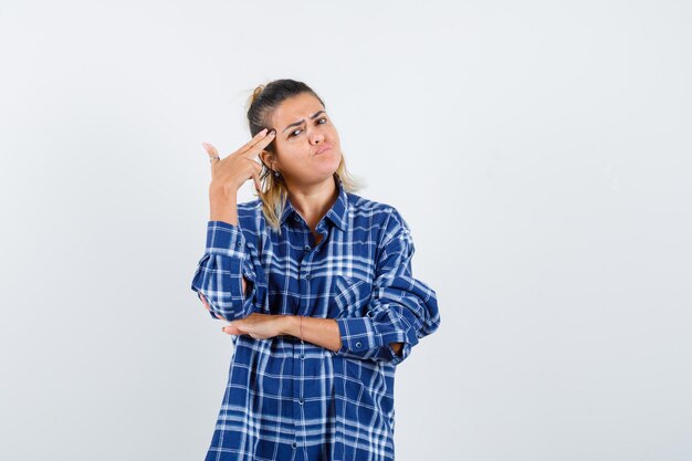
[[[265,284],[258,265],[253,264],[252,249],[239,226],[209,221],[207,247],[190,287],[198,297],[200,293],[205,295],[212,318],[217,318],[214,314],[228,321],[243,318],[258,311],[262,300]],[[248,284],[247,294],[242,291],[243,276]]]

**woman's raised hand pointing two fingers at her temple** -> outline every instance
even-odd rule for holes
[[[211,160],[210,193],[223,193],[224,197],[235,196],[238,189],[248,180],[254,180],[260,191],[260,172],[262,166],[255,161],[258,155],[274,139],[276,133],[264,128],[249,143],[226,158]],[[219,157],[219,151],[211,144],[202,143],[209,158]]]

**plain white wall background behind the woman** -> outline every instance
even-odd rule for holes
[[[684,1],[0,6],[0,458],[201,460],[232,353],[189,285],[252,88],[325,101],[440,329],[398,461],[692,458]],[[250,199],[250,184],[243,200]]]

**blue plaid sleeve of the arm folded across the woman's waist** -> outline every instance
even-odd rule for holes
[[[379,249],[366,316],[336,318],[342,347],[335,355],[397,365],[410,355],[419,339],[438,329],[437,294],[413,277],[415,251],[408,224],[392,210],[385,243]],[[390,343],[403,343],[399,354]]]

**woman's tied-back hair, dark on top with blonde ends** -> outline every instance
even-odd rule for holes
[[[270,126],[271,117],[281,103],[290,97],[294,97],[304,93],[312,94],[326,108],[324,102],[317,94],[305,83],[295,80],[283,78],[274,80],[268,84],[261,84],[252,92],[248,99],[248,123],[250,124],[250,134],[254,137],[262,129]],[[276,155],[276,144],[270,143],[264,150],[272,155]],[[361,186],[346,169],[346,163],[342,155],[336,172],[334,174],[340,181],[344,189],[348,192],[355,192]],[[260,192],[262,200],[262,212],[264,218],[274,230],[281,233],[280,222],[289,191],[282,176],[274,176],[273,171],[262,163],[262,171],[260,172]]]

